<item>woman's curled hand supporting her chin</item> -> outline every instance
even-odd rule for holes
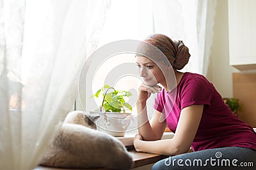
[[[145,83],[141,83],[139,87],[138,102],[143,103],[147,101],[147,99],[150,97],[151,94],[159,93],[160,90],[162,90],[162,88],[159,87],[159,85],[149,86],[149,85],[145,85]]]

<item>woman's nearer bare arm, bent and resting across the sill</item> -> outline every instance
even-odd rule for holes
[[[138,152],[161,155],[179,155],[188,152],[200,124],[204,105],[191,105],[181,110],[175,135],[172,139],[142,141],[134,138],[134,147]]]

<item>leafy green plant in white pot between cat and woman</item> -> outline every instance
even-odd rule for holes
[[[92,97],[100,96],[102,103],[94,112],[100,115],[96,121],[97,129],[112,136],[124,136],[130,124],[131,112],[127,111],[132,111],[132,106],[126,101],[132,96],[131,92],[104,85]]]

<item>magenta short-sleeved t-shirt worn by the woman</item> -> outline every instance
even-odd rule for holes
[[[169,93],[161,90],[154,108],[164,113],[168,127],[175,132],[180,111],[193,104],[204,104],[191,146],[194,151],[228,146],[256,150],[256,134],[252,127],[232,113],[212,83],[200,74],[184,73],[174,90]]]

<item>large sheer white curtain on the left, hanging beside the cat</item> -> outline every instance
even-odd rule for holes
[[[74,107],[79,72],[109,5],[0,1],[0,169],[37,166]]]

